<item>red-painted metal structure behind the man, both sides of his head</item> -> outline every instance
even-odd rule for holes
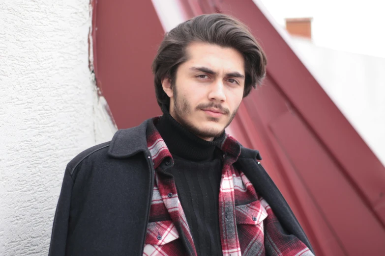
[[[222,12],[267,53],[267,79],[231,129],[258,149],[317,256],[383,255],[385,168],[252,0],[180,0],[191,16]],[[97,1],[94,66],[118,128],[161,114],[150,70],[163,29],[151,1]],[[96,10],[96,11],[95,11]]]

